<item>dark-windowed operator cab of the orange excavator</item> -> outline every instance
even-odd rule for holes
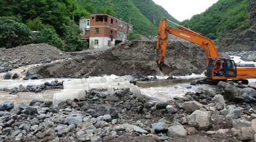
[[[228,58],[211,58],[206,68],[206,76],[211,79],[236,77],[236,64],[234,60]]]

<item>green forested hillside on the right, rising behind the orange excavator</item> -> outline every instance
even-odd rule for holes
[[[219,0],[205,12],[181,22],[191,30],[216,39],[222,49],[255,47],[255,0]],[[245,35],[250,32],[250,35]],[[234,47],[235,46],[235,47]]]

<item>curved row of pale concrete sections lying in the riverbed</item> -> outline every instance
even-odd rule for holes
[[[133,95],[140,96],[139,87],[125,81],[123,78],[89,77],[74,79],[63,83],[63,90],[53,95],[53,104],[58,104],[67,99],[81,99],[85,96],[85,91],[101,90],[101,93],[113,94],[114,90],[127,87],[130,88]]]

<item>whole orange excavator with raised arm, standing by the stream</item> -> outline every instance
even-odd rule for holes
[[[168,26],[170,22],[180,29],[175,29]],[[205,82],[218,83],[219,81],[242,81],[242,84],[248,84],[248,78],[256,78],[255,64],[235,63],[230,57],[219,57],[218,51],[212,40],[204,37],[201,33],[194,32],[182,25],[176,24],[170,20],[163,19],[159,23],[157,34],[157,52],[161,52],[161,57],[156,60],[156,63],[165,75],[173,72],[177,67],[164,63],[167,38],[169,34],[196,43],[201,46],[206,52],[207,67],[205,71],[206,78],[198,79],[197,84],[209,84]],[[211,84],[211,83],[210,83]]]

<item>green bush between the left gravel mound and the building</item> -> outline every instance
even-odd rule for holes
[[[45,26],[40,30],[35,36],[34,43],[47,43],[60,50],[64,50],[63,43],[52,26]]]

